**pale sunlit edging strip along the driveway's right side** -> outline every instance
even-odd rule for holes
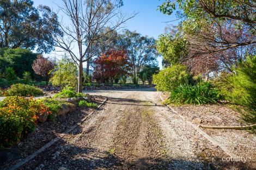
[[[162,98],[162,93],[160,93],[160,98],[162,101],[164,101],[164,99]],[[206,134],[202,129],[200,129],[199,127],[197,127],[196,125],[194,125],[192,122],[187,121],[186,118],[182,115],[180,115],[177,111],[175,111],[172,107],[170,107],[169,105],[166,105],[172,112],[174,112],[174,114],[178,115],[180,118],[182,118],[187,124],[191,125],[195,130],[197,130],[197,132],[204,136],[208,141],[210,141],[212,144],[214,144],[217,147],[220,147],[226,154],[228,154],[231,158],[238,158],[237,155],[233,154],[232,152],[230,152],[230,150],[225,147],[223,144],[221,144],[220,142],[218,142],[217,140],[215,140],[215,138],[212,138],[211,136],[209,136],[208,134]]]

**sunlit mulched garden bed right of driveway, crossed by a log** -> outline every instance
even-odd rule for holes
[[[164,99],[168,98],[168,93],[162,93]],[[229,108],[228,105],[207,104],[207,105],[181,105],[172,106],[179,115],[185,117],[198,125],[194,120],[200,120],[200,125],[210,126],[241,126],[246,125],[241,122],[240,114]],[[239,155],[248,162],[253,162],[256,166],[255,147],[256,136],[246,130],[234,129],[203,129],[205,133],[227,147],[232,153]],[[249,155],[249,156],[248,156]]]

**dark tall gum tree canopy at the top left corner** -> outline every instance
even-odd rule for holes
[[[53,50],[53,32],[62,35],[57,14],[46,5],[34,8],[31,0],[0,1],[0,48],[37,47],[48,53]]]

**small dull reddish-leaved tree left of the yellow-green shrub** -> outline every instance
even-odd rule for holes
[[[41,75],[45,79],[46,85],[48,85],[50,79],[49,72],[54,68],[54,64],[43,58],[42,55],[38,55],[38,58],[32,64],[32,68],[36,74]]]

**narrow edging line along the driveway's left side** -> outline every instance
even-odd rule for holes
[[[97,106],[97,108],[100,108],[105,102],[107,101],[107,98],[105,98],[101,104],[99,106]],[[46,150],[47,148],[49,148],[50,146],[52,146],[52,144],[56,143],[58,140],[60,140],[60,138],[62,138],[65,134],[70,133],[70,131],[74,130],[78,125],[81,125],[84,121],[86,121],[86,119],[88,119],[95,111],[92,111],[89,113],[88,116],[84,117],[79,123],[76,123],[75,125],[72,125],[68,130],[64,131],[64,133],[60,134],[58,137],[54,138],[53,140],[51,140],[50,142],[46,143],[43,147],[41,147],[40,149],[36,150],[36,152],[34,152],[33,154],[27,156],[27,158],[17,162],[15,165],[13,165],[12,167],[9,168],[9,170],[14,170],[17,169],[19,167],[21,167],[22,165],[24,165],[25,163],[27,163],[28,161],[31,161],[33,158],[35,158],[35,156],[37,156],[38,154],[40,154],[41,152],[44,152],[44,150]]]

